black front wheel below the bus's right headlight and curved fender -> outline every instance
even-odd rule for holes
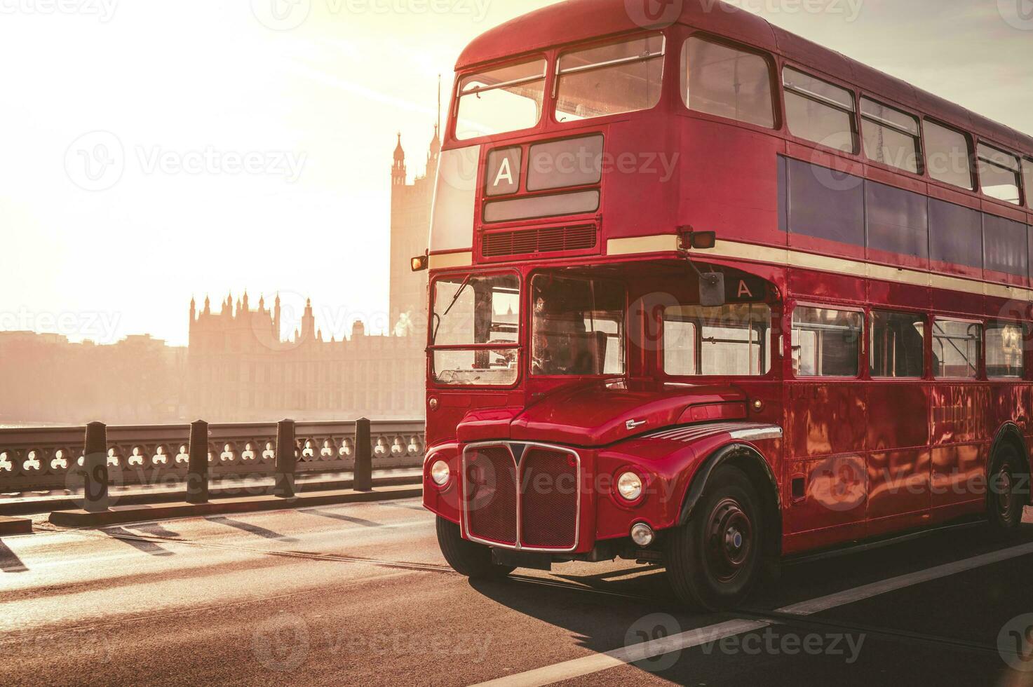
[[[667,577],[678,598],[694,610],[734,608],[762,576],[762,550],[756,490],[739,468],[720,467],[689,522],[667,536]]]

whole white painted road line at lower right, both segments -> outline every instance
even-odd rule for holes
[[[835,608],[837,606],[846,605],[847,603],[853,603],[854,601],[860,601],[873,596],[878,596],[879,594],[885,594],[886,592],[896,591],[905,587],[911,587],[912,585],[920,585],[921,583],[930,582],[932,580],[946,577],[958,572],[964,572],[973,568],[991,565],[993,563],[1000,563],[1001,561],[1030,554],[1033,554],[1033,543],[1011,547],[1010,549],[1003,549],[1001,551],[991,552],[981,556],[966,558],[962,561],[937,565],[936,567],[932,567],[927,570],[909,572],[907,574],[898,575],[896,577],[872,583],[870,585],[863,585],[862,587],[837,592],[836,594],[828,594],[827,596],[821,596],[809,601],[793,603],[779,608],[776,613],[809,616],[811,614],[828,611],[829,608]],[[592,675],[594,673],[599,673],[600,670],[606,670],[612,667],[618,667],[635,661],[654,658],[662,654],[682,651],[684,649],[698,647],[712,642],[720,642],[725,637],[744,634],[746,632],[753,632],[773,624],[774,623],[772,621],[761,620],[729,620],[724,623],[708,625],[707,627],[688,630],[687,632],[674,634],[668,637],[645,642],[630,647],[622,647],[620,649],[615,649],[614,651],[608,651],[604,654],[593,654],[584,658],[575,658],[562,663],[555,663],[553,665],[527,670],[525,673],[518,673],[515,675],[499,678],[498,680],[480,683],[480,685],[477,685],[476,687],[483,687],[486,685],[491,685],[492,687],[538,687],[540,685],[552,685],[563,680],[570,680],[586,675]]]

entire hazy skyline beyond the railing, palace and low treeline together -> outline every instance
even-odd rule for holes
[[[409,258],[427,247],[439,126],[427,166],[408,183],[402,134],[392,165],[390,331],[326,341],[307,302],[301,326],[284,340],[286,310],[247,294],[213,310],[190,303],[190,343],[150,336],[115,345],[70,343],[58,335],[0,332],[0,426],[103,419],[113,424],[412,418],[424,415],[427,273]],[[299,304],[300,306],[300,304]]]

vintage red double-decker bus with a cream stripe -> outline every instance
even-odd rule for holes
[[[457,570],[662,562],[716,610],[785,556],[1018,527],[1033,138],[710,0],[569,0],[457,72],[414,260]]]

